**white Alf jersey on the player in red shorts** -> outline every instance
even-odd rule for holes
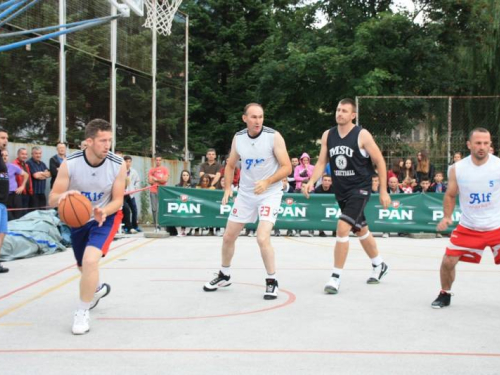
[[[489,155],[485,164],[477,166],[468,156],[454,165],[460,225],[476,231],[500,228],[500,159]]]

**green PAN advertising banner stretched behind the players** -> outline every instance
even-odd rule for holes
[[[160,187],[158,218],[162,226],[225,227],[232,202],[222,205],[221,190]],[[236,196],[236,193],[235,193]],[[394,194],[388,209],[379,203],[378,194],[371,196],[365,216],[374,232],[435,232],[443,218],[444,194]],[[341,214],[332,194],[284,194],[276,221],[278,229],[334,230]],[[460,207],[453,213],[454,223],[460,219]],[[250,228],[255,224],[247,225]],[[453,228],[448,229],[448,233]]]

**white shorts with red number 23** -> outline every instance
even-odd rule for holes
[[[282,192],[259,197],[238,195],[235,199],[228,220],[235,223],[255,223],[257,217],[260,221],[276,222],[281,207]]]

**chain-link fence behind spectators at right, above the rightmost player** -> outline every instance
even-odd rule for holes
[[[491,132],[499,151],[500,96],[359,96],[358,124],[375,137],[390,169],[400,158],[416,165],[427,151],[436,171],[446,173],[453,154],[468,154],[467,137],[476,127]]]

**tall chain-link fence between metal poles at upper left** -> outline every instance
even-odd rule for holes
[[[43,0],[0,28],[0,33],[59,24],[59,0]],[[67,22],[111,14],[107,0],[66,0]],[[152,32],[144,17],[117,21],[116,149],[150,155],[152,143]],[[183,157],[185,23],[174,19],[172,34],[158,37],[156,150]],[[35,36],[34,34],[29,37]],[[21,38],[1,39],[8,44]],[[67,36],[66,138],[83,140],[85,124],[110,119],[111,26],[105,24]],[[59,41],[48,40],[0,56],[0,118],[11,139],[55,144],[59,140]]]

